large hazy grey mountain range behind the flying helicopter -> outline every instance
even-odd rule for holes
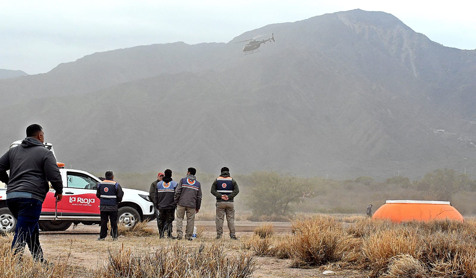
[[[260,33],[276,42],[243,55],[235,42]],[[99,52],[0,80],[0,142],[41,124],[61,162],[90,172],[226,165],[418,178],[448,167],[476,177],[475,69],[476,51],[391,14],[336,12],[228,43]]]

